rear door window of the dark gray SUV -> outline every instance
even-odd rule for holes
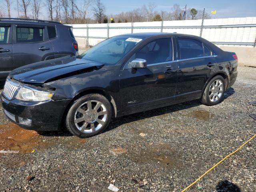
[[[44,40],[42,28],[17,27],[17,43],[34,43]]]

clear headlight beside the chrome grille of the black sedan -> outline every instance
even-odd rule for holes
[[[52,97],[53,92],[48,92],[44,90],[36,90],[34,88],[29,87],[22,87],[18,91],[16,95],[16,99],[22,101],[34,101],[34,102],[41,102],[50,100]]]

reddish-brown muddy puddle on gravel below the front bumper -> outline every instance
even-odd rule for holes
[[[20,128],[13,123],[0,125],[0,151],[4,153],[17,152],[24,154],[54,146],[64,146],[74,149],[85,142],[86,139],[80,139],[75,136],[42,136],[36,131]]]

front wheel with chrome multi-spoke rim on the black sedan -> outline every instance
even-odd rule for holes
[[[112,116],[110,102],[101,94],[88,94],[76,100],[66,116],[66,127],[74,136],[88,138],[101,133]]]

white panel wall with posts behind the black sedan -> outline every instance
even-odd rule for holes
[[[146,26],[161,26],[162,22],[134,22],[134,27]],[[184,26],[184,28],[164,28],[163,32],[177,32],[182,34],[191,34],[200,36],[200,26],[202,20],[179,20],[179,21],[164,21],[163,26]],[[256,24],[256,17],[244,18],[224,18],[224,19],[205,19],[204,26],[222,26],[234,24]],[[70,24],[69,24],[70,25]],[[73,24],[74,36],[87,36],[86,29],[76,29],[77,27],[86,28],[86,24]],[[107,24],[88,24],[90,27],[107,27]],[[111,29],[109,37],[131,33],[132,23],[110,23],[110,27],[129,27],[128,29]],[[186,28],[186,26],[198,26],[198,28]],[[160,32],[160,28],[150,29],[133,29],[134,33],[139,32]],[[92,37],[107,37],[107,29],[89,29],[88,36]],[[256,27],[235,27],[235,28],[204,28],[202,38],[211,42],[254,42],[256,38]],[[89,38],[89,45],[94,46],[104,39]],[[218,46],[221,46],[218,44]],[[252,47],[252,46],[249,46]]]

